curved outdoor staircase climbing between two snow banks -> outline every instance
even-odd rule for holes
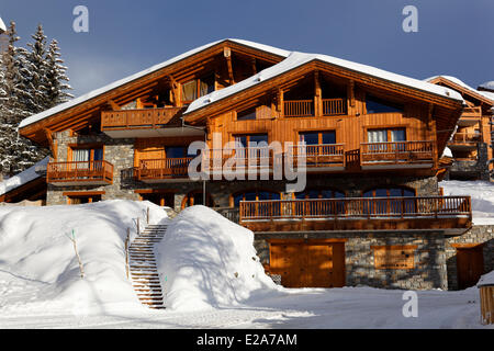
[[[149,308],[165,308],[153,247],[161,241],[166,230],[166,225],[148,225],[128,247],[132,285],[141,303]]]

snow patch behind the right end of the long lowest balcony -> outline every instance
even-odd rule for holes
[[[470,195],[475,225],[494,225],[494,184],[487,181],[442,181],[445,195]]]

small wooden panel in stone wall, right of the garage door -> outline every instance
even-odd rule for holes
[[[372,246],[377,270],[412,270],[417,246]]]

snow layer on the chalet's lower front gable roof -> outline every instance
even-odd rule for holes
[[[283,61],[269,67],[259,73],[249,77],[234,86],[224,88],[218,91],[214,91],[207,95],[201,97],[197,100],[194,100],[184,114],[191,113],[198,109],[204,107],[215,101],[225,99],[232,94],[235,94],[239,91],[246,90],[248,88],[251,88],[256,84],[259,84],[262,81],[266,81],[268,79],[271,79],[273,77],[280,76],[283,72],[287,72],[289,70],[292,70],[296,67],[300,67],[302,65],[305,65],[313,60],[321,60],[323,63],[327,63],[334,66],[343,67],[349,70],[358,71],[360,73],[364,73],[368,76],[372,76],[375,78],[381,78],[388,81],[393,81],[409,88],[423,90],[426,92],[430,92],[437,95],[441,95],[449,99],[454,99],[459,101],[463,101],[463,98],[460,93],[457,91],[446,88],[446,87],[439,87],[436,84],[431,84],[427,81],[405,77],[402,75],[393,73],[390,71],[385,71],[372,66],[367,66],[362,64],[357,64],[353,61],[349,61],[346,59],[327,56],[327,55],[321,55],[321,54],[305,54],[305,53],[299,53],[299,52],[292,52]]]

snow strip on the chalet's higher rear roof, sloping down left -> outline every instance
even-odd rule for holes
[[[57,105],[55,107],[52,107],[52,109],[46,110],[44,112],[41,112],[38,114],[32,115],[32,116],[30,116],[27,118],[24,118],[19,124],[19,128],[25,127],[25,126],[27,126],[30,124],[33,124],[35,122],[38,122],[38,121],[44,120],[46,117],[49,117],[50,115],[54,115],[54,114],[59,113],[61,111],[68,110],[70,107],[74,107],[74,106],[76,106],[76,105],[78,105],[80,103],[83,103],[83,102],[92,99],[92,98],[101,95],[101,94],[103,94],[103,93],[105,93],[108,91],[111,91],[111,90],[113,90],[115,88],[119,88],[119,87],[121,87],[121,86],[123,86],[125,83],[128,83],[131,81],[139,79],[139,78],[142,78],[144,76],[147,76],[149,73],[153,73],[153,72],[155,72],[157,70],[160,70],[160,69],[162,69],[162,68],[165,68],[167,66],[170,66],[170,65],[172,65],[175,63],[178,63],[178,61],[180,61],[180,60],[182,60],[184,58],[188,58],[188,57],[190,57],[190,56],[192,56],[192,55],[194,55],[197,53],[205,50],[205,49],[207,49],[207,48],[210,48],[210,47],[212,47],[212,46],[214,46],[214,45],[216,45],[218,43],[226,42],[226,41],[235,42],[235,43],[238,43],[240,45],[245,45],[245,46],[249,46],[249,47],[252,47],[252,48],[257,48],[257,49],[260,49],[260,50],[263,50],[263,52],[268,52],[270,54],[278,55],[278,56],[281,56],[281,57],[287,57],[290,54],[290,52],[281,49],[281,48],[278,48],[278,47],[273,47],[273,46],[269,46],[269,45],[265,45],[265,44],[258,44],[258,43],[244,41],[244,39],[226,38],[226,39],[222,39],[222,41],[216,41],[216,42],[213,42],[213,43],[210,43],[210,44],[206,44],[206,45],[193,48],[193,49],[191,49],[191,50],[189,50],[187,53],[183,53],[183,54],[178,55],[178,56],[176,56],[173,58],[170,58],[170,59],[168,59],[168,60],[166,60],[166,61],[164,61],[161,64],[151,66],[151,67],[149,67],[149,68],[147,68],[145,70],[142,70],[142,71],[137,72],[137,73],[134,73],[134,75],[128,76],[126,78],[120,79],[120,80],[117,80],[117,81],[115,81],[113,83],[104,86],[104,87],[102,87],[100,89],[92,90],[92,91],[90,91],[90,92],[88,92],[88,93],[86,93],[83,95],[75,98],[75,99],[72,99],[72,100],[70,100],[68,102],[65,102],[63,104],[59,104],[59,105]]]

